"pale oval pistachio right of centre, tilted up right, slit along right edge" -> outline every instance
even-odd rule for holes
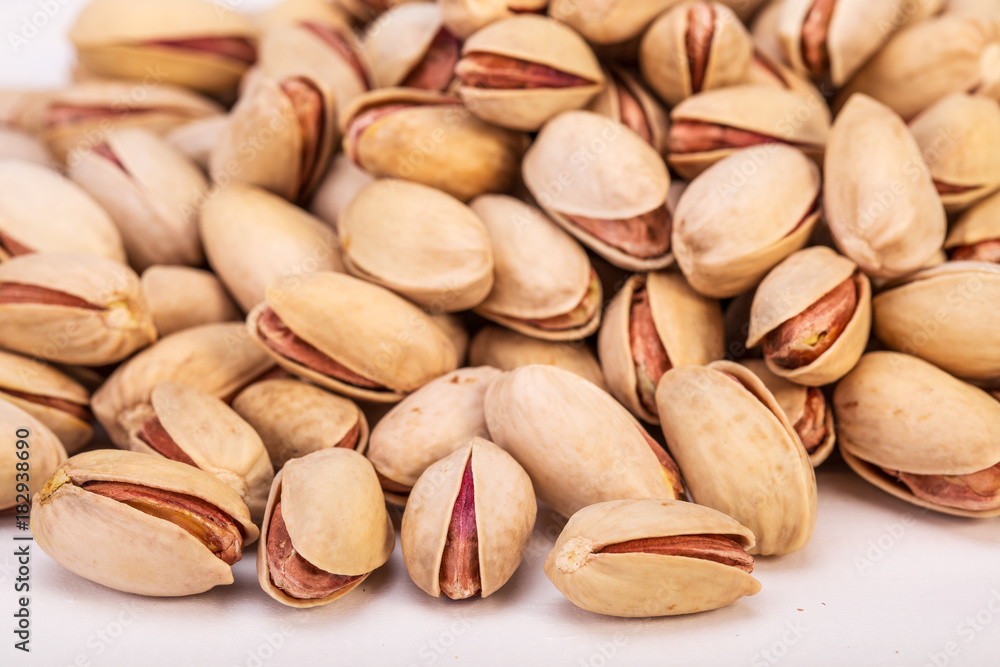
[[[759,283],[809,240],[820,185],[819,168],[781,144],[734,153],[692,181],[677,205],[672,239],[691,286],[725,298]]]

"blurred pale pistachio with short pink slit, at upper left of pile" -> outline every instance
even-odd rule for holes
[[[208,182],[201,170],[148,130],[113,132],[98,148],[110,155],[81,153],[69,176],[111,215],[129,263],[137,271],[204,263],[197,222]]]

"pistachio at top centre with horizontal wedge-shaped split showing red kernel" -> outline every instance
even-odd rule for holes
[[[587,42],[536,14],[502,19],[469,37],[455,75],[472,113],[515,130],[534,131],[560,112],[583,108],[604,87]]]

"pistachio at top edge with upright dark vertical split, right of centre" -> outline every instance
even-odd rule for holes
[[[639,47],[642,76],[675,106],[703,90],[743,83],[753,43],[732,10],[718,2],[685,2],[653,21]]]

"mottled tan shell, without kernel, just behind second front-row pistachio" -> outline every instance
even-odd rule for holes
[[[354,428],[354,450],[368,446],[368,421],[351,400],[298,380],[256,382],[233,399],[233,410],[264,441],[275,470],[291,459],[336,447]]]

